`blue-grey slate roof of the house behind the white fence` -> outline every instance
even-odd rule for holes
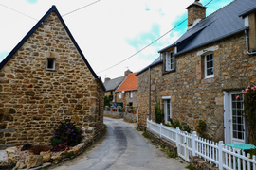
[[[187,30],[176,42],[158,52],[161,53],[170,47],[176,46],[177,53],[174,56],[178,56],[211,42],[243,32],[247,27],[244,26],[244,20],[240,15],[253,8],[256,8],[256,0],[235,0],[226,7],[212,13],[206,19]],[[145,69],[143,70],[145,71]],[[140,73],[142,72],[137,75]]]

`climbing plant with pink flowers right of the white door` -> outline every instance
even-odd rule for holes
[[[253,141],[256,141],[256,86],[248,86],[244,92],[237,95],[236,99],[244,99],[248,143],[252,144]]]

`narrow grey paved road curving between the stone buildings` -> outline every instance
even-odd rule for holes
[[[134,127],[122,121],[104,118],[108,132],[101,144],[73,165],[61,165],[56,170],[187,170],[187,162],[166,158]]]

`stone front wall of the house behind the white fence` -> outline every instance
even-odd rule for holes
[[[204,61],[198,52],[218,46],[214,51],[214,77],[204,79]],[[148,118],[148,71],[138,75],[138,127]],[[192,130],[205,120],[213,141],[224,140],[223,91],[241,91],[255,85],[256,58],[246,52],[245,34],[240,33],[176,57],[176,71],[162,74],[162,65],[151,68],[151,115],[155,120],[155,101],[171,96],[172,118],[186,122]]]

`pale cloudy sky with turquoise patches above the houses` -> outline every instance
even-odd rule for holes
[[[201,0],[200,3],[206,5],[210,1]],[[207,6],[207,16],[232,1],[212,0]],[[127,69],[138,72],[157,59],[160,49],[169,46],[186,32],[187,22],[134,57],[127,58],[185,20],[186,8],[193,2],[194,0],[0,0],[0,62],[46,11],[55,5],[83,55],[102,81],[105,77],[124,76]],[[82,8],[92,3],[94,4]],[[127,60],[108,69],[124,59]],[[108,70],[103,71],[105,69]]]

